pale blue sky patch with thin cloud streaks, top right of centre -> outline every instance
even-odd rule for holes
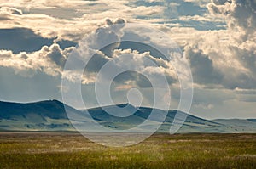
[[[136,19],[150,20],[162,19],[163,21],[155,22],[157,24],[180,25],[182,27],[193,27],[199,31],[207,30],[224,30],[226,24],[223,21],[199,21],[199,20],[179,20],[180,17],[186,16],[205,16],[208,14],[207,5],[199,5],[193,2],[184,2],[180,0],[165,0],[156,2],[147,2],[138,0],[130,3],[131,6],[162,6],[165,10],[162,14],[137,15]]]

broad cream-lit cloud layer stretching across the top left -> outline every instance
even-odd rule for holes
[[[0,28],[27,28],[44,38],[78,42],[106,18],[134,20],[138,15],[159,14],[163,7],[131,7],[123,1],[4,1]],[[72,10],[72,12],[70,12]],[[117,12],[118,11],[118,12]],[[56,14],[62,14],[58,16]],[[78,14],[78,15],[74,15]],[[121,20],[119,20],[121,21]]]

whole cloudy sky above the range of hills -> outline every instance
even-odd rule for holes
[[[0,0],[0,23],[0,100],[62,100],[61,78],[73,82],[76,76],[75,70],[67,76],[64,66],[84,37],[84,45],[93,49],[104,41],[105,37],[90,40],[99,31],[135,23],[164,32],[188,60],[194,82],[190,114],[256,118],[256,0]],[[106,39],[154,39],[142,30],[122,29]],[[93,88],[99,65],[125,55],[126,65],[143,66],[142,72],[154,75],[154,80],[167,76],[172,109],[177,109],[179,81],[173,67],[153,48],[142,48],[118,43],[96,54],[82,79],[88,106],[96,106]],[[145,64],[145,59],[158,66]],[[127,101],[125,93],[136,87],[150,95],[148,84],[134,72],[120,75],[114,80],[113,100]],[[75,100],[73,106],[78,107]]]

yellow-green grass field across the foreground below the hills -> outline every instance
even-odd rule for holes
[[[110,148],[75,132],[0,132],[0,168],[256,168],[256,134],[155,134]]]

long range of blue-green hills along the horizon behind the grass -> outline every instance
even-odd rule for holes
[[[90,116],[102,126],[123,130],[137,127],[148,118],[152,108],[135,108],[131,104],[119,104],[129,110],[137,111],[127,117],[116,117],[109,115],[105,110],[113,110],[113,105],[89,109]],[[69,111],[83,115],[84,110],[76,110],[73,107],[65,106]],[[183,113],[183,112],[180,112]],[[158,132],[168,132],[177,110],[169,110],[166,120],[163,122]],[[163,110],[157,110],[157,115],[152,121],[159,121],[160,115],[164,115]],[[88,119],[84,116],[84,121]],[[64,104],[58,100],[46,100],[35,103],[20,104],[0,102],[0,130],[2,131],[75,131],[73,125],[67,118]],[[206,120],[194,115],[188,115],[186,121],[178,132],[256,132],[255,119],[218,119]]]

